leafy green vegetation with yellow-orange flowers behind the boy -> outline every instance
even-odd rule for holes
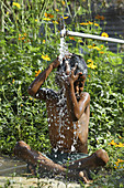
[[[100,1],[104,9],[105,2]],[[18,140],[47,153],[50,144],[45,103],[29,96],[27,87],[59,54],[60,17],[68,30],[109,36],[100,28],[105,18],[87,17],[91,15],[90,0],[1,0],[0,6],[0,153],[12,155]],[[82,55],[89,67],[89,153],[104,148],[110,156],[108,173],[103,171],[101,182],[95,177],[95,184],[123,187],[124,52],[112,53],[108,43],[94,40],[67,36],[66,42],[69,51]],[[57,88],[54,76],[55,73],[47,79],[45,87]]]

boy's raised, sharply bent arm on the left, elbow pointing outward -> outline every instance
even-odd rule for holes
[[[42,95],[38,95],[38,90],[47,79],[47,76],[50,74],[50,72],[56,69],[59,65],[58,59],[56,59],[53,63],[50,63],[40,75],[32,82],[32,84],[29,86],[29,94],[35,98],[45,100],[45,90],[43,90]],[[40,91],[41,92],[41,91]]]

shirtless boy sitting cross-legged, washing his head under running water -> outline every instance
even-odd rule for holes
[[[56,82],[59,83],[60,92],[41,87],[54,69],[57,69]],[[87,65],[83,59],[69,54],[61,64],[58,59],[50,63],[29,87],[31,96],[46,102],[49,140],[55,158],[59,159],[66,154],[71,158],[71,154],[83,156],[88,153],[90,95],[83,92],[86,77]],[[53,174],[83,179],[84,170],[95,169],[109,161],[106,152],[99,149],[91,156],[70,160],[67,167],[67,164],[59,164],[40,152],[34,152],[22,140],[16,143],[14,154],[27,164],[38,164],[41,171],[45,169]]]

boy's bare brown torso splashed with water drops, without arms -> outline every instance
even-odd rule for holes
[[[67,98],[64,93],[56,93],[52,90],[46,92],[48,92],[48,96],[46,95],[45,102],[49,139],[53,149],[64,153],[88,153],[87,140],[90,105],[86,107],[80,119],[72,122],[69,117]],[[42,90],[40,90],[40,96],[42,96]]]

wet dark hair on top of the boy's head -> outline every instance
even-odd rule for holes
[[[63,64],[60,64],[57,67],[57,72],[66,71],[65,61],[68,61],[68,65],[70,66],[70,70],[77,65],[75,74],[81,72],[83,75],[87,76],[87,74],[88,74],[87,64],[86,64],[84,60],[80,55],[77,55],[77,54],[72,54],[70,58],[64,60]]]

